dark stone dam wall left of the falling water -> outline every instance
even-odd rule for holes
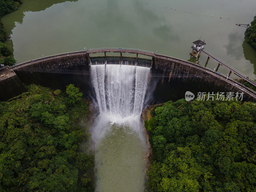
[[[65,90],[66,85],[73,83],[88,92],[86,88],[91,87],[89,76],[76,75],[75,71],[89,71],[89,64],[88,54],[65,55],[20,65],[13,71],[25,85],[34,83]],[[66,71],[73,71],[74,74],[67,74]]]

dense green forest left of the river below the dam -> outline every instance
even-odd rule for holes
[[[73,84],[66,92],[31,84],[0,103],[1,192],[94,191],[89,124],[80,123],[90,112],[81,98]]]

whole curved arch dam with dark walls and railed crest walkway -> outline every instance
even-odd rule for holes
[[[107,56],[109,52],[118,53],[118,56]],[[94,56],[94,53],[102,55]],[[126,53],[132,53],[133,56],[124,56]],[[141,58],[145,56],[148,59]],[[244,92],[244,101],[256,101],[256,92],[212,69],[155,52],[124,48],[67,52],[2,68],[0,100],[6,101],[26,92],[25,86],[32,83],[62,91],[72,83],[80,88],[85,98],[90,99],[94,94],[90,66],[92,61],[97,60],[105,64],[118,64],[117,61],[124,64],[124,61],[129,60],[139,66],[150,67],[148,90],[154,90],[146,95],[150,103],[184,98],[185,92],[191,89],[195,95],[197,92]]]

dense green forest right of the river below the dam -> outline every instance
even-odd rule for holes
[[[168,101],[145,127],[153,151],[147,191],[256,190],[255,103]]]

